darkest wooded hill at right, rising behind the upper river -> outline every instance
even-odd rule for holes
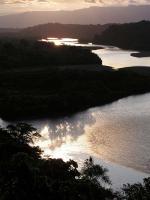
[[[113,24],[102,34],[96,35],[94,42],[124,49],[150,51],[150,21]]]

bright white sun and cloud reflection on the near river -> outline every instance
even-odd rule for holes
[[[59,129],[63,130],[64,126],[65,125],[59,126]],[[51,129],[48,126],[45,126],[40,134],[41,138],[35,141],[35,145],[43,150],[43,157],[50,156],[52,158],[63,158],[67,161],[73,159],[72,155],[79,153],[80,151],[82,153],[87,153],[88,143],[86,135],[81,135],[77,140],[73,140],[71,135],[66,134],[65,136],[62,136],[63,133],[60,133],[59,136],[53,138]]]

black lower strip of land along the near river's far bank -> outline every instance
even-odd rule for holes
[[[27,67],[0,73],[0,89],[3,119],[60,117],[149,92],[150,76],[131,69]]]

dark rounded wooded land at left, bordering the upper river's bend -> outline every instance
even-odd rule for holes
[[[0,40],[0,68],[52,65],[101,64],[88,49],[60,46],[34,40]]]

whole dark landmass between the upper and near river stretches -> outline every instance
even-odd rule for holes
[[[0,41],[0,115],[57,117],[150,91],[150,76],[113,70],[89,49]],[[149,71],[149,68],[147,68]]]

